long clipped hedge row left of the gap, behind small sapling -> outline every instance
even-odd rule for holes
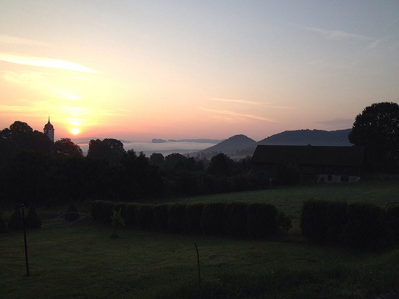
[[[128,227],[157,232],[259,239],[276,236],[278,231],[277,209],[267,203],[93,201],[91,210],[96,222],[110,224],[112,211],[119,209]]]

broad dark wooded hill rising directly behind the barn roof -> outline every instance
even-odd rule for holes
[[[352,146],[348,134],[352,129],[338,131],[295,130],[272,135],[258,142],[270,146]]]

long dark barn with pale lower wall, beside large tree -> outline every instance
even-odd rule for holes
[[[301,182],[357,182],[363,173],[364,147],[257,146],[251,171],[277,176],[295,167]]]

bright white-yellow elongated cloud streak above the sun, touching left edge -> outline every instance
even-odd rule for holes
[[[52,58],[21,56],[21,55],[0,53],[0,60],[11,63],[24,64],[24,65],[59,68],[59,69],[73,70],[78,72],[97,73],[96,71],[88,67],[73,62],[52,59]]]

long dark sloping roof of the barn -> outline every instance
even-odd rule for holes
[[[364,147],[257,146],[254,163],[362,166]]]

